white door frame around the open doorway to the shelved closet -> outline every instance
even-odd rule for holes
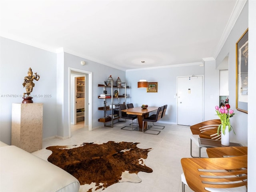
[[[85,81],[85,100],[84,108],[84,126],[88,127],[89,131],[92,131],[92,72],[79,70],[75,68],[69,68],[69,137],[71,137],[71,124],[74,124],[75,102],[76,97],[75,90],[75,76],[84,76]]]

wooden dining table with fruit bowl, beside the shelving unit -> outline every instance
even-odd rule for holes
[[[138,124],[139,128],[142,129],[143,122],[142,120],[144,118],[147,118],[149,113],[152,111],[158,110],[158,107],[148,107],[146,109],[142,109],[141,107],[134,107],[134,108],[129,108],[129,109],[124,109],[122,112],[126,112],[126,114],[130,115],[136,115],[138,118]],[[147,128],[147,122],[144,123],[144,129]]]

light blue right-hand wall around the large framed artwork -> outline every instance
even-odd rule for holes
[[[248,115],[236,110],[236,42],[248,28],[248,2],[244,6],[236,24],[230,32],[224,46],[216,58],[216,67],[228,55],[228,89],[230,108],[235,110],[236,115],[230,118],[230,124],[234,127],[235,134],[230,134],[230,140],[240,142],[247,146]],[[250,32],[249,32],[250,33]]]

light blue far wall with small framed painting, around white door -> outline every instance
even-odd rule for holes
[[[177,77],[203,75],[204,67],[198,65],[168,68],[152,68],[145,70],[132,70],[126,72],[126,80],[130,89],[130,102],[134,106],[148,104],[149,106],[162,106],[168,104],[166,116],[161,122],[176,124],[177,101],[174,96],[177,92]],[[158,82],[158,92],[146,92],[146,88],[137,88],[138,81],[146,79],[148,82]],[[195,109],[196,110],[196,109]]]

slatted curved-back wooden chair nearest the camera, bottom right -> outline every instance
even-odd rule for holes
[[[182,158],[182,192],[247,192],[247,155],[226,158]]]

